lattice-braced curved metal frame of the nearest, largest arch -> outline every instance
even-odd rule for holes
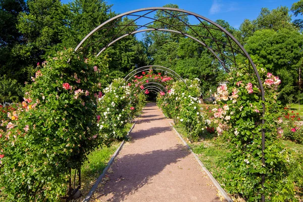
[[[161,11],[164,12],[165,14],[168,15],[168,17],[164,17],[161,19],[155,19],[155,18],[151,18],[148,17],[148,14],[157,12],[157,11]],[[143,12],[146,12],[144,14],[142,14]],[[172,14],[170,12],[175,12],[177,14]],[[194,17],[196,20],[198,20],[199,24],[197,25],[190,25],[187,22],[184,22],[180,17],[182,16],[191,16]],[[124,17],[134,17],[135,19],[131,19],[130,22],[128,24],[125,25],[119,25],[118,23],[121,22],[122,18]],[[146,23],[144,25],[136,25],[136,21],[139,20],[140,18],[145,18],[145,19],[149,19],[151,20],[151,22]],[[169,19],[169,18],[174,18],[174,19],[178,19],[179,23],[182,22],[182,25],[170,25],[167,24],[165,22],[163,22],[162,20],[164,19]],[[153,26],[151,26],[154,22],[161,22],[163,25],[163,27],[158,27],[155,28]],[[107,26],[106,26],[107,25]],[[190,34],[190,33],[186,33],[185,31],[183,32],[182,30],[178,29],[179,27],[186,27],[187,29],[185,30],[190,30],[192,31],[194,34]],[[201,28],[204,28],[205,30],[207,30],[208,35],[200,35],[198,34],[193,27],[194,26],[198,26]],[[122,28],[121,28],[122,27]],[[128,31],[125,29],[126,27],[134,27],[134,30],[132,31]],[[112,30],[114,28],[121,28],[119,30],[118,33],[116,33],[113,36],[109,36],[107,37],[106,34],[109,33],[109,30]],[[141,28],[147,28],[144,30],[139,30]],[[173,28],[173,29],[171,29]],[[92,35],[97,32],[98,30],[106,30],[105,32],[105,36],[102,37],[102,39],[92,42],[90,43],[90,40],[92,39]],[[226,39],[226,41],[222,41],[220,39],[217,39],[214,37],[213,33],[211,32],[211,30],[217,30],[217,31],[221,31],[221,33],[223,34],[223,39]],[[124,31],[124,32],[123,32]],[[105,45],[103,48],[101,48],[101,50],[99,51],[98,55],[100,53],[102,53],[107,47],[109,47],[110,45],[112,45],[113,43],[115,43],[116,41],[128,36],[128,35],[132,35],[132,34],[136,34],[139,32],[146,32],[146,31],[168,31],[168,32],[174,32],[174,33],[178,33],[178,34],[182,34],[185,37],[189,37],[195,41],[197,41],[198,43],[200,43],[201,45],[203,45],[204,47],[206,47],[213,55],[214,57],[220,62],[220,64],[222,65],[222,67],[225,69],[225,71],[228,72],[228,68],[226,67],[226,63],[225,60],[229,60],[230,62],[232,62],[235,66],[237,66],[237,62],[236,62],[236,54],[241,54],[242,56],[244,56],[245,58],[248,59],[248,68],[250,68],[250,65],[252,67],[252,69],[254,70],[257,79],[258,79],[258,83],[259,83],[259,87],[261,89],[261,93],[262,93],[262,101],[263,101],[263,114],[262,114],[262,164],[263,166],[265,166],[265,160],[264,160],[264,149],[265,149],[265,128],[264,128],[264,124],[265,124],[265,120],[264,120],[264,115],[265,115],[265,92],[264,92],[264,88],[263,88],[263,84],[260,78],[260,75],[257,71],[257,68],[254,64],[254,62],[252,62],[250,56],[248,55],[248,53],[245,51],[245,49],[243,48],[243,46],[236,40],[236,38],[230,34],[227,30],[225,30],[223,27],[221,27],[219,24],[211,21],[210,19],[203,17],[201,15],[198,15],[196,13],[190,12],[190,11],[185,11],[185,10],[181,10],[181,9],[175,9],[175,8],[165,8],[165,7],[153,7],[153,8],[143,8],[143,9],[137,9],[137,10],[133,10],[133,11],[129,11],[120,15],[117,15],[109,20],[107,20],[106,22],[100,24],[99,26],[97,26],[94,30],[92,30],[89,34],[87,34],[83,40],[77,45],[77,47],[75,48],[75,51],[79,51],[80,47],[83,45],[83,43],[89,38],[88,45],[86,45],[85,47],[82,47],[81,50],[85,51],[85,49],[88,46],[91,46],[93,44],[96,44],[97,42],[100,41],[105,41],[105,39],[111,38],[110,42]],[[215,44],[213,45],[209,45],[207,44],[207,42],[205,41],[205,39],[211,39]],[[222,48],[220,47],[220,45],[222,45]],[[225,50],[225,47],[229,47],[230,51],[231,51],[231,55],[232,58],[229,58],[229,56],[226,55],[227,51]],[[265,182],[265,174],[262,175],[262,188],[264,188],[264,182]],[[265,197],[262,194],[262,201],[265,201]]]

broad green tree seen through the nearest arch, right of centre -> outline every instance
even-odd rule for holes
[[[178,8],[176,5],[166,5],[165,7]],[[181,21],[167,18],[168,14],[164,12],[159,11],[154,17],[161,20],[161,22],[163,21],[163,23],[159,21],[155,22],[152,25],[154,27],[167,27],[168,25],[165,23],[168,23],[172,26],[170,29],[178,28],[178,30],[181,29],[188,34],[199,34],[211,37],[210,33],[201,27],[191,27],[189,30],[183,30],[185,29],[184,26],[178,26],[183,24]],[[181,20],[188,22],[187,17],[183,17]],[[218,20],[216,22],[231,33],[235,31],[226,21]],[[207,26],[214,27],[211,24]],[[210,29],[209,31],[218,40],[226,40],[222,32],[216,29]],[[191,38],[176,33],[153,31],[145,33],[144,41],[145,46],[147,46],[147,55],[153,64],[168,67],[176,71],[183,78],[199,78],[204,80],[204,82],[201,83],[204,94],[207,93],[210,88],[215,89],[217,83],[224,80],[224,70],[219,68],[220,64],[212,53]],[[204,39],[204,42],[208,44],[208,46],[222,46],[222,44],[215,43],[215,41],[207,38]],[[228,47],[226,48],[226,52],[228,52],[227,49]],[[228,64],[228,62],[226,63]]]

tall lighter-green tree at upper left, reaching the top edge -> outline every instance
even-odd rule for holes
[[[68,25],[69,10],[60,0],[30,0],[27,5],[28,12],[21,13],[17,28],[31,47],[31,57],[41,62],[52,46],[62,42],[60,36]]]

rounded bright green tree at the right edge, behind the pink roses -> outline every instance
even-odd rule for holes
[[[289,29],[263,29],[248,38],[244,46],[255,64],[264,67],[280,77],[280,98],[298,90],[298,62],[303,56],[303,37],[297,31]]]

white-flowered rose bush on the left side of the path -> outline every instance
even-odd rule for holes
[[[109,144],[115,139],[123,139],[127,130],[125,125],[145,106],[145,96],[131,96],[131,87],[123,79],[115,79],[104,89],[105,95],[98,99],[100,135]],[[143,96],[142,96],[143,95]]]

